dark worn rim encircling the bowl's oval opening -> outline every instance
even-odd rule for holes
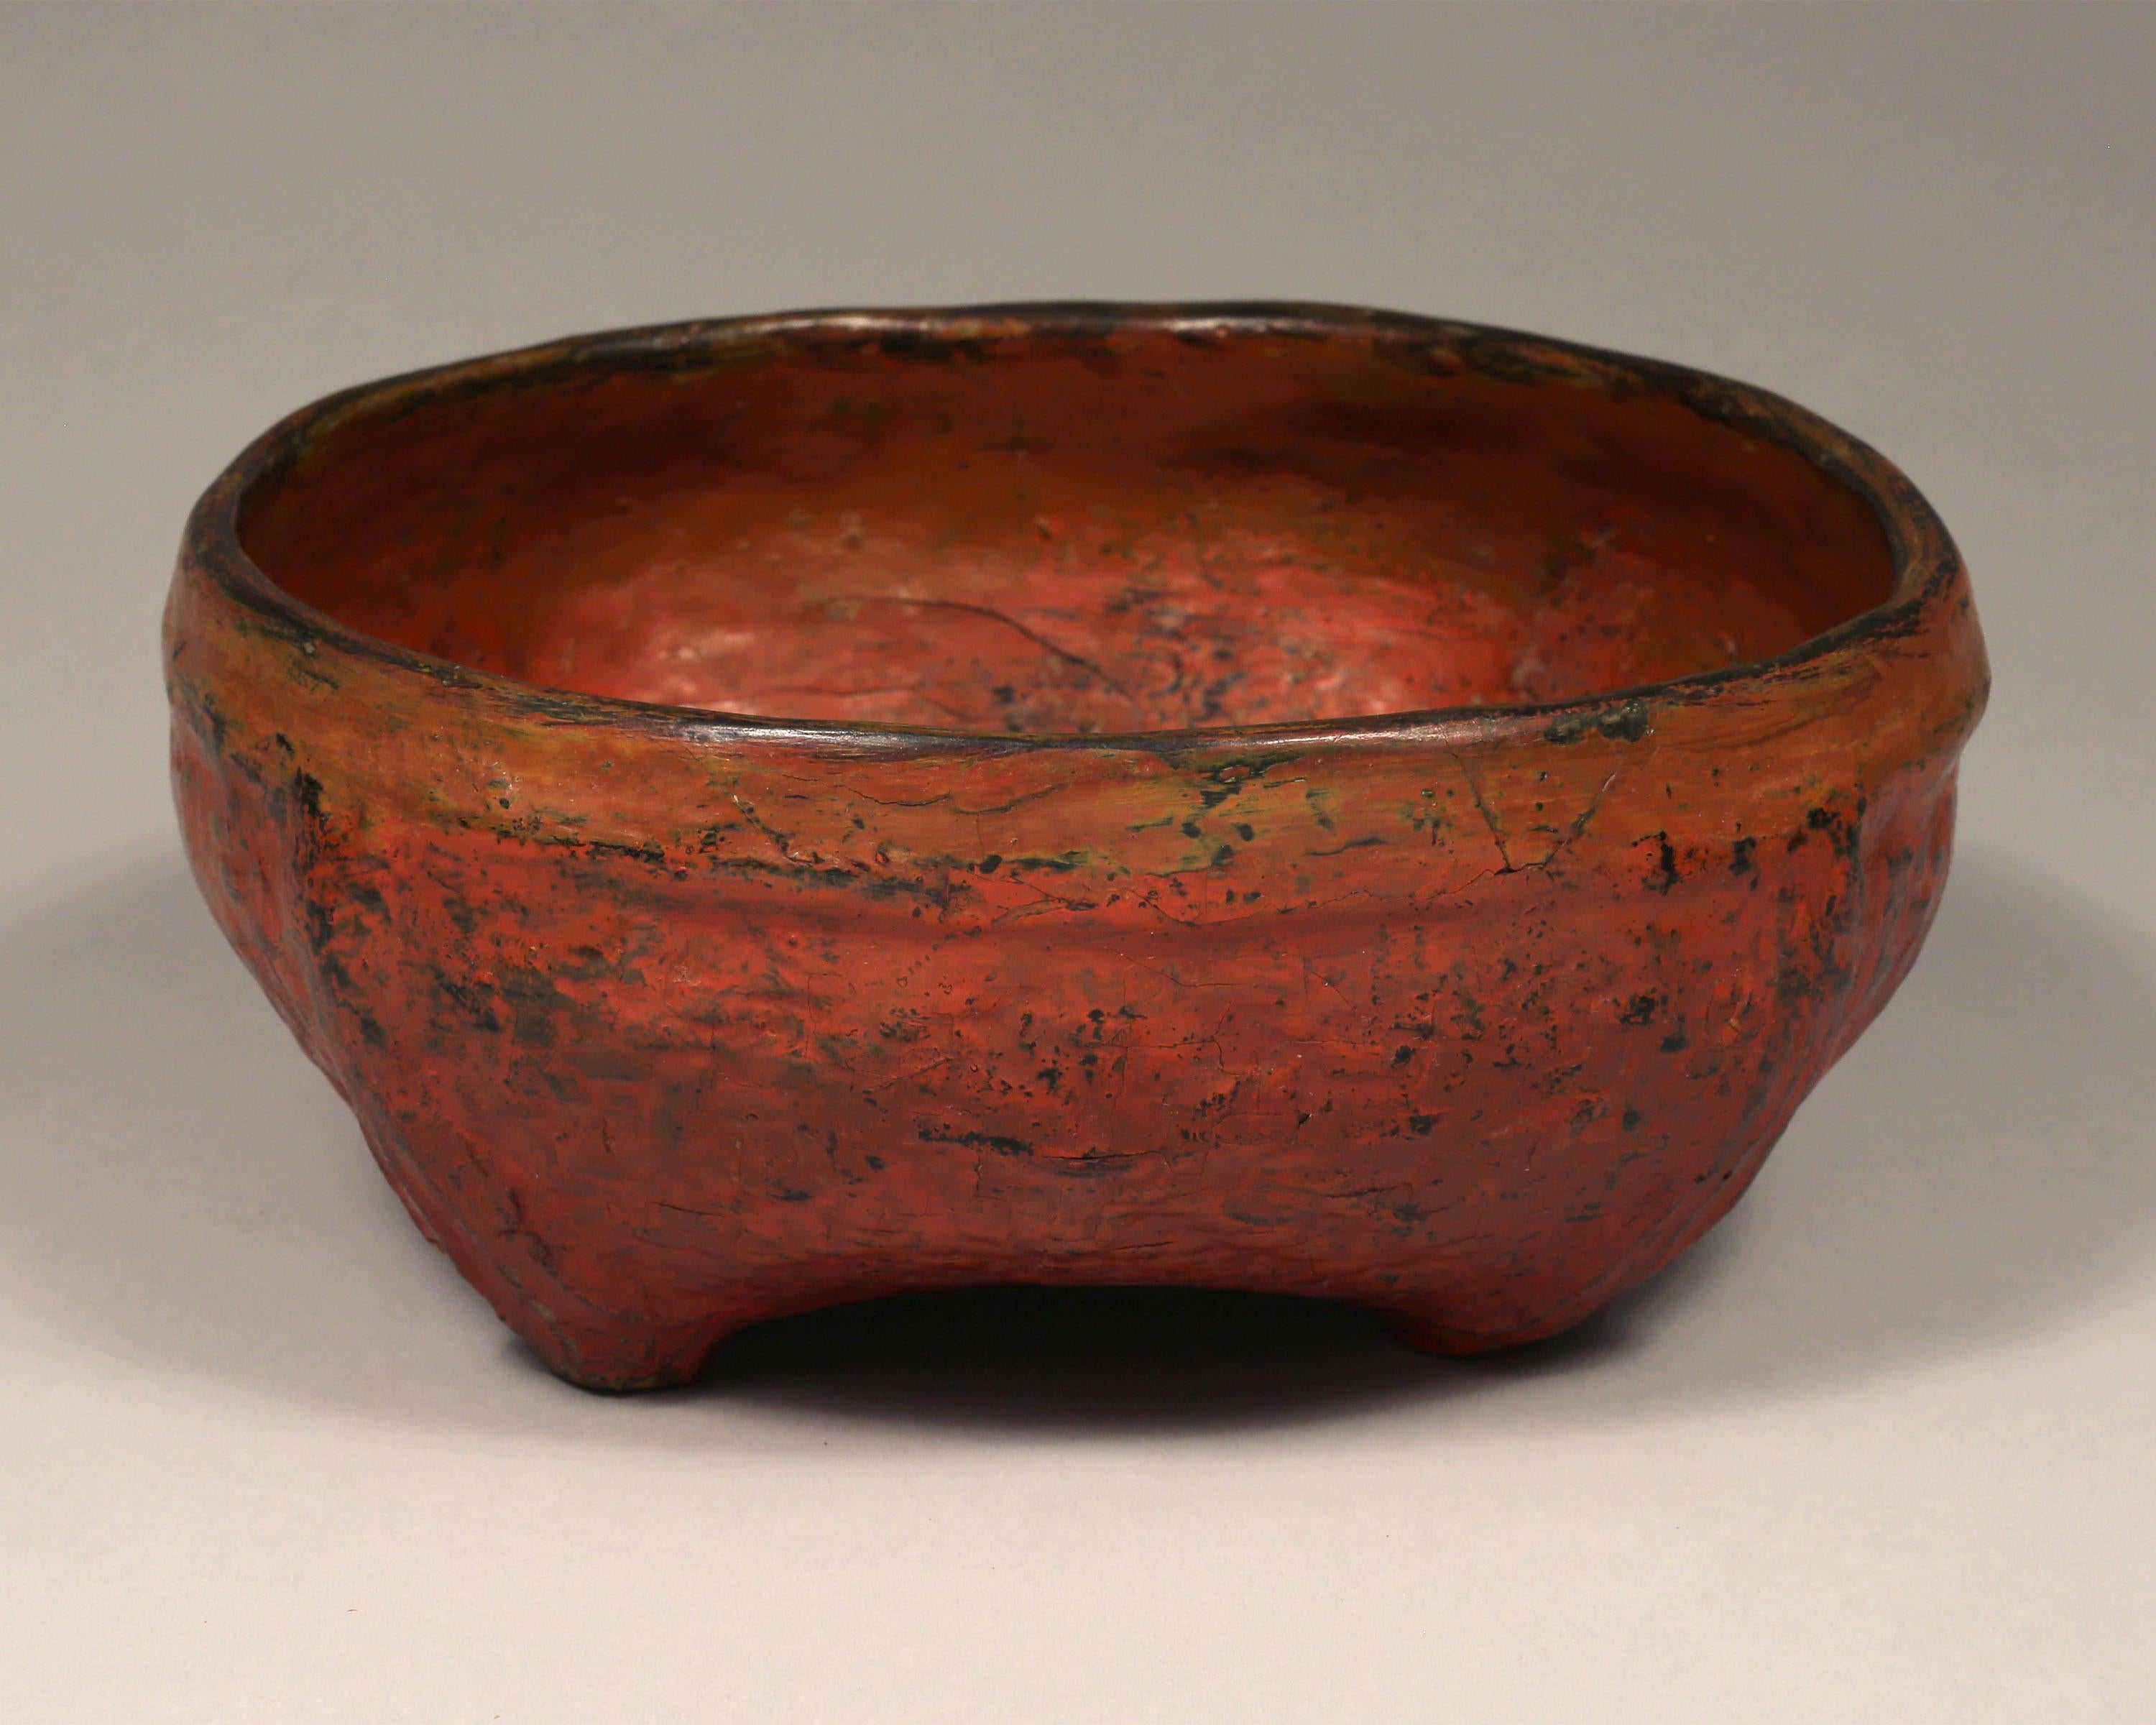
[[[278,586],[241,543],[239,522],[248,500],[300,466],[323,438],[354,418],[405,414],[433,401],[543,386],[606,371],[696,371],[722,364],[727,349],[755,354],[759,347],[804,347],[819,339],[856,347],[875,345],[903,358],[1026,336],[1078,341],[1128,332],[1164,332],[1188,341],[1281,334],[1363,341],[1382,345],[1408,362],[1445,354],[1464,371],[1498,380],[1600,384],[1613,390],[1645,390],[1669,397],[1710,420],[1789,448],[1850,489],[1880,524],[1891,561],[1889,593],[1876,606],[1783,653],[1664,681],[1598,690],[1567,701],[1315,716],[1266,724],[1011,733],[733,714],[530,684],[356,630]],[[287,638],[310,658],[330,651],[371,662],[416,677],[444,694],[464,692],[511,716],[556,724],[617,727],[645,735],[671,735],[701,746],[731,740],[856,757],[953,748],[966,753],[1039,748],[1143,753],[1199,748],[1212,753],[1281,744],[1309,746],[1311,742],[1382,746],[1401,740],[1429,740],[1432,735],[1488,740],[1492,733],[1548,740],[1572,740],[1589,731],[1639,735],[1654,707],[1690,705],[1725,692],[1766,692],[1792,677],[1820,673],[1828,660],[1919,634],[1932,608],[1964,580],[1964,565],[1945,522],[1899,468],[1841,427],[1772,390],[1669,360],[1524,330],[1300,300],[1018,300],[959,306],[839,306],[642,323],[423,367],[326,395],[254,438],[209,483],[190,511],[181,539],[181,569],[188,567],[207,574],[218,591],[252,615],[257,625]]]

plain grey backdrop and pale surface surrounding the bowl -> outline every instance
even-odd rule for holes
[[[2152,95],[2128,6],[0,9],[0,1714],[2147,1721]],[[1526,326],[1876,442],[1999,673],[1932,949],[1524,1361],[983,1300],[582,1397],[196,906],[181,515],[375,373],[1024,295]]]

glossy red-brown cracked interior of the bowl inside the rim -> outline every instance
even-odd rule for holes
[[[1893,582],[1854,492],[1654,390],[1263,330],[498,373],[343,418],[241,541],[548,688],[1024,733],[1565,701]]]

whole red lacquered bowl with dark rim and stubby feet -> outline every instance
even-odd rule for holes
[[[1986,690],[1805,410],[1285,304],[371,384],[203,496],[166,649],[218,921],[597,1389],[983,1281],[1578,1322],[1906,972]]]

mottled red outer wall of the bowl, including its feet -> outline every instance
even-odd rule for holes
[[[1981,696],[1934,623],[1585,724],[847,748],[330,658],[183,565],[172,761],[220,925],[578,1382],[966,1281],[1481,1350],[1712,1225],[1915,957]]]

